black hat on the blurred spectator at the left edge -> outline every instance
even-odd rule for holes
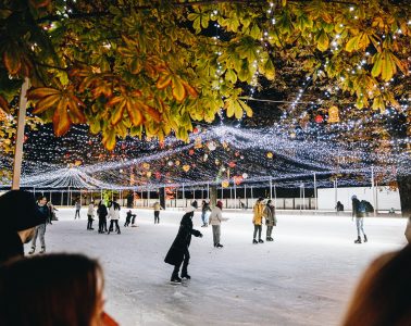
[[[3,230],[20,231],[46,223],[32,192],[10,190],[0,197],[0,218]]]

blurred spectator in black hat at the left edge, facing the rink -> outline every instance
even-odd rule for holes
[[[33,193],[10,190],[0,196],[0,212],[3,217],[0,228],[0,264],[24,255],[23,243],[33,239],[37,225],[46,222],[38,210]],[[0,319],[1,324],[1,319]]]

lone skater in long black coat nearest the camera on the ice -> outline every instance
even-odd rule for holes
[[[192,212],[187,212],[184,214],[182,222],[179,224],[179,229],[178,234],[175,237],[175,240],[173,244],[171,246],[164,262],[167,264],[174,265],[174,271],[171,277],[171,281],[175,283],[180,283],[182,278],[191,278],[187,274],[187,266],[188,262],[190,260],[190,253],[188,252],[188,247],[190,246],[191,242],[191,235],[195,237],[202,237],[202,234],[197,230],[192,229],[192,216],[194,216],[194,211]],[[182,278],[178,277],[178,272],[179,272],[179,266],[183,263],[183,268],[182,268]]]

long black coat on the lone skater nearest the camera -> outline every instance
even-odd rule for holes
[[[184,214],[179,224],[177,236],[174,239],[164,262],[171,265],[180,265],[184,260],[184,254],[187,252],[191,242],[191,235],[201,237],[201,233],[192,228],[194,212]]]

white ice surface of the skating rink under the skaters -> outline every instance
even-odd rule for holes
[[[279,215],[274,242],[252,244],[251,213],[223,212],[223,249],[214,249],[211,227],[195,228],[191,280],[171,285],[173,266],[163,262],[182,212],[137,212],[139,227],[121,235],[87,230],[86,209],[60,209],[48,226],[48,252],[97,258],[105,274],[107,311],[121,325],[339,325],[352,290],[368,264],[404,243],[406,220],[368,217],[369,242],[354,244],[350,217]],[[263,226],[265,240],[265,226]],[[39,243],[37,244],[39,246]],[[26,252],[28,247],[25,248]]]

